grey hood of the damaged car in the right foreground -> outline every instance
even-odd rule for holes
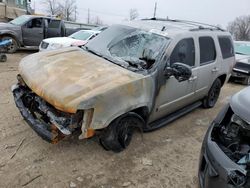
[[[250,123],[250,87],[235,94],[231,99],[231,107],[235,114]]]

